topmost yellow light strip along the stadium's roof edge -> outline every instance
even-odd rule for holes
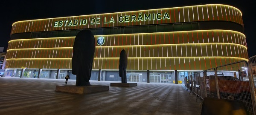
[[[198,6],[207,6],[207,5],[220,5],[220,6],[228,6],[228,7],[232,7],[233,9],[238,10],[241,15],[242,12],[237,9],[234,6],[229,6],[229,5],[224,5],[224,4],[205,4],[205,5],[196,5],[196,6],[182,6],[182,7],[173,7],[173,8],[163,8],[163,9],[147,9],[147,10],[138,10],[138,11],[148,11],[148,10],[166,10],[166,9],[177,9],[177,8],[185,8],[185,7],[198,7]],[[128,13],[128,12],[138,12],[138,11],[122,11],[122,12],[113,12],[113,13],[104,13],[104,14],[117,14],[117,13]],[[69,17],[55,17],[55,18],[44,18],[44,19],[37,19],[37,20],[49,20],[49,19],[57,19],[57,18],[70,18],[70,17],[81,17],[81,16],[93,16],[93,15],[104,15],[104,14],[90,14],[90,15],[80,15],[80,16],[69,16]],[[19,22],[26,22],[26,21],[36,21],[36,20],[23,20],[23,21],[17,21],[15,23],[19,23]],[[15,24],[12,23],[12,26]]]

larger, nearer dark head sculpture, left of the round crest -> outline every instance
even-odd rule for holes
[[[76,86],[90,86],[90,76],[95,51],[95,38],[89,30],[77,33],[73,45],[72,74],[76,75]]]

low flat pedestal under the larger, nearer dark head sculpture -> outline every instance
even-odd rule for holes
[[[91,86],[76,86],[76,85],[60,85],[56,86],[55,91],[69,92],[69,93],[92,93],[92,92],[103,92],[108,91],[109,86],[91,85]]]

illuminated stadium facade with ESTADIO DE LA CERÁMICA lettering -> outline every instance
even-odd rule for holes
[[[248,61],[241,11],[209,4],[13,23],[6,73],[28,78],[72,75],[76,34],[89,29],[96,50],[91,80],[121,80],[119,54],[128,54],[128,81],[172,83],[239,60]],[[38,76],[38,72],[40,75]],[[100,75],[99,75],[100,74]],[[6,75],[8,76],[8,75]]]

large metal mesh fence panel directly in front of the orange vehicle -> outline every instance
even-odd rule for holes
[[[254,105],[251,91],[254,90],[250,86],[249,81],[244,81],[245,77],[250,78],[248,63],[246,61],[238,61],[216,67],[215,78],[216,86],[218,85],[219,97],[230,100],[242,101],[247,107],[247,111],[253,115]],[[217,84],[218,83],[218,84]]]

